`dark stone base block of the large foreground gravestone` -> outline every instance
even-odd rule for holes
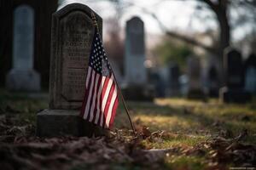
[[[41,111],[37,115],[37,136],[103,136],[108,130],[85,121],[76,110]]]

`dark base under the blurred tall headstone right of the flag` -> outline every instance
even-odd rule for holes
[[[127,100],[153,101],[154,99],[154,89],[146,87],[146,85],[131,85],[122,88],[122,94]]]

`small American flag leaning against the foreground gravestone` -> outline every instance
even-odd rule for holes
[[[119,105],[118,88],[99,32],[95,31],[80,115],[87,121],[110,128]]]

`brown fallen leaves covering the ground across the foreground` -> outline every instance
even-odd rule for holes
[[[248,135],[247,129],[237,137],[219,133],[193,146],[156,149],[148,148],[143,142],[162,143],[178,134],[163,130],[151,132],[140,122],[136,124],[136,136],[131,130],[115,129],[107,136],[97,138],[38,138],[32,124],[17,126],[14,122],[13,116],[0,116],[0,167],[5,170],[65,170],[79,166],[111,169],[113,164],[160,169],[170,156],[205,157],[208,169],[224,169],[227,164],[256,166],[256,146],[243,142]]]

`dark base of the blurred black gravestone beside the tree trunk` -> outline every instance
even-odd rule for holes
[[[219,99],[224,103],[247,103],[252,100],[252,95],[241,88],[220,88]]]

